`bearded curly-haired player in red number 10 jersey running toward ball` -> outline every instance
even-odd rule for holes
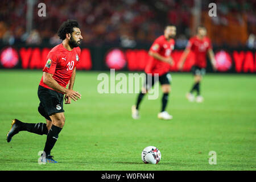
[[[51,150],[65,123],[63,100],[65,104],[71,104],[71,99],[77,101],[81,98],[81,94],[73,90],[76,65],[81,53],[79,46],[82,36],[79,23],[76,20],[67,20],[61,24],[58,35],[63,42],[48,53],[38,88],[38,111],[46,118],[46,123],[24,123],[14,119],[7,134],[7,142],[19,131],[47,135],[41,160],[48,163],[56,163],[51,156]]]

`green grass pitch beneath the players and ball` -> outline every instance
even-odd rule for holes
[[[137,94],[99,94],[100,72],[77,72],[74,90],[82,99],[64,105],[66,122],[52,155],[58,164],[38,164],[46,135],[26,131],[6,142],[11,120],[45,122],[38,113],[42,71],[0,71],[0,170],[255,170],[256,75],[208,74],[201,84],[202,104],[185,93],[191,74],[172,73],[167,111],[157,118],[160,99],[141,104],[141,119],[131,118]],[[162,152],[159,164],[143,164],[144,147]],[[216,151],[217,164],[208,163]]]

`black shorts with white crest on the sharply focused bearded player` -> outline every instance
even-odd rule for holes
[[[51,121],[49,115],[54,113],[63,113],[63,99],[64,94],[57,92],[52,89],[44,88],[39,85],[38,87],[38,98],[40,104],[38,106],[38,111],[44,118]]]

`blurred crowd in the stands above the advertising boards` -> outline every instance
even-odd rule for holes
[[[38,3],[46,4],[46,17],[38,16]],[[213,46],[256,48],[256,0],[201,1],[201,24]],[[208,15],[216,3],[217,16]],[[2,0],[2,44],[59,44],[56,32],[62,22],[76,19],[86,46],[150,45],[167,24],[177,27],[176,46],[184,48],[193,29],[193,0],[42,0],[34,5],[32,31],[26,32],[26,0]]]

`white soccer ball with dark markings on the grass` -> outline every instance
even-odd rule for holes
[[[145,164],[157,164],[160,162],[161,152],[154,146],[148,146],[142,151],[141,159]]]

